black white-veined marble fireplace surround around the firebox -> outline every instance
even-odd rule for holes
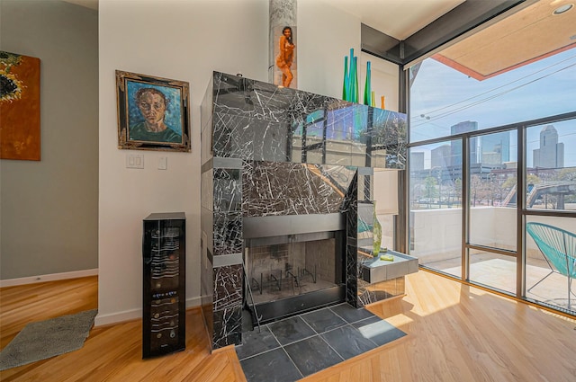
[[[404,168],[404,114],[214,72],[201,119],[202,313],[213,350],[242,341],[251,241],[338,236],[341,299],[383,297],[363,279],[365,227],[374,171]],[[384,294],[403,293],[403,279],[392,281]]]

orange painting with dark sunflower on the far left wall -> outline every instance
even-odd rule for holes
[[[40,161],[40,58],[0,51],[0,158]]]

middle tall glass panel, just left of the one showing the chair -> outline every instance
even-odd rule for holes
[[[511,294],[517,285],[518,168],[509,151],[517,141],[516,130],[473,136],[476,160],[467,166],[469,280]]]

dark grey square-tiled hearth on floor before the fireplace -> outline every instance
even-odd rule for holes
[[[242,333],[236,352],[248,382],[288,382],[404,335],[365,308],[343,303]]]

